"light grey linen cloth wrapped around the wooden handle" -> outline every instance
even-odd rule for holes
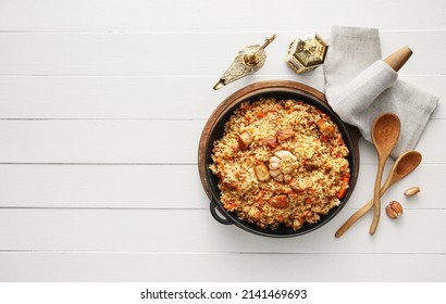
[[[374,119],[394,113],[401,132],[392,156],[412,150],[438,98],[397,78],[381,60],[380,34],[375,28],[333,27],[324,64],[325,96],[339,117],[372,142]]]

